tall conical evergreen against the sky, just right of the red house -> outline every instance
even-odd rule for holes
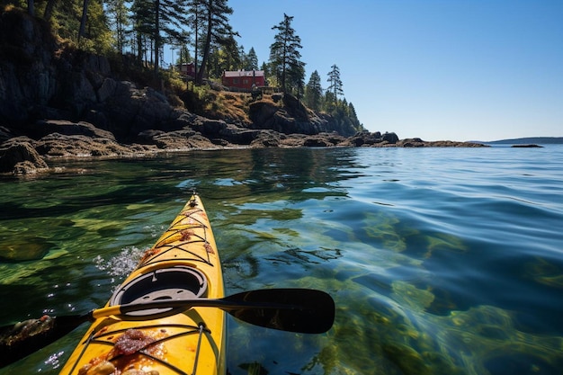
[[[272,27],[278,33],[270,46],[270,62],[281,89],[284,92],[296,89],[299,94],[299,88],[303,87],[305,63],[300,61],[301,39],[291,27],[292,20],[293,16],[284,13],[283,21]]]

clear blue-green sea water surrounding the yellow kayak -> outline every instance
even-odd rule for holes
[[[0,180],[0,326],[103,306],[197,187],[228,294],[328,291],[324,335],[229,320],[231,374],[563,373],[563,147],[263,149]],[[85,326],[1,374],[58,373]]]

